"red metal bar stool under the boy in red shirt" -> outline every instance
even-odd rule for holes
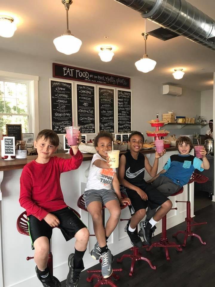
[[[79,218],[81,218],[80,214],[74,210],[73,208],[70,208]],[[19,231],[19,233],[28,235],[29,236],[29,230],[28,230],[28,225],[27,225],[27,212],[24,211],[23,213],[20,214],[16,221],[16,228]],[[57,226],[56,226],[57,227]],[[53,227],[54,228],[54,227]],[[59,228],[59,227],[58,227]],[[33,259],[34,257],[27,257],[26,260]],[[51,252],[51,242],[49,245],[49,254],[48,254],[48,263],[47,266],[49,268],[50,274],[53,275],[53,256]]]

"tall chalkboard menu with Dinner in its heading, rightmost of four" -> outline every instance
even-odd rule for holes
[[[131,131],[131,91],[117,89],[118,132]]]

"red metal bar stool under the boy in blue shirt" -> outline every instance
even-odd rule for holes
[[[176,196],[180,193],[183,192],[183,187],[181,189],[179,189],[178,192],[172,194],[171,196]],[[177,202],[177,201],[176,201]],[[177,210],[177,207],[172,208]],[[165,249],[165,253],[166,253],[166,260],[170,260],[169,257],[169,251],[168,248],[173,247],[176,248],[177,251],[182,251],[181,245],[176,244],[176,242],[169,242],[168,238],[167,238],[167,234],[166,234],[166,215],[162,218],[162,236],[160,238],[160,241],[153,243],[149,248],[146,249],[146,251],[150,251],[153,247],[163,247]]]

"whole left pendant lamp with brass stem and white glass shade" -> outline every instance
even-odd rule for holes
[[[53,43],[56,47],[56,49],[64,53],[66,55],[71,55],[73,53],[76,53],[79,51],[82,41],[75,36],[71,34],[71,31],[69,30],[69,21],[68,21],[68,10],[70,5],[72,4],[72,0],[62,0],[61,1],[66,9],[67,14],[67,29],[65,30],[65,33],[61,35],[60,37],[57,37],[53,40]]]

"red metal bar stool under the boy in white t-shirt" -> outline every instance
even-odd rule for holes
[[[121,196],[123,198],[125,198],[125,195],[123,193],[121,193]],[[83,194],[79,197],[77,205],[82,210],[87,211],[87,209],[85,207],[85,200],[84,200]],[[122,210],[127,206],[128,206],[128,204],[126,203],[125,205],[120,205],[120,208]],[[103,221],[103,226],[105,228],[105,206],[102,207],[102,221]],[[90,236],[95,236],[95,234],[90,234]],[[101,263],[101,259],[99,260],[99,262]],[[119,280],[119,276],[114,273],[117,271],[122,271],[122,268],[113,269],[113,273],[110,275],[110,277],[104,278],[102,276],[102,274],[96,274],[96,273],[101,273],[102,270],[87,270],[87,273],[93,273],[93,275],[91,275],[90,277],[87,277],[86,280],[87,280],[87,282],[92,282],[93,279],[96,278],[97,283],[94,285],[94,287],[98,287],[100,285],[110,285],[111,287],[117,287],[116,284],[114,284],[113,281],[111,280],[111,278],[113,278],[113,280],[115,280],[115,281]]]

